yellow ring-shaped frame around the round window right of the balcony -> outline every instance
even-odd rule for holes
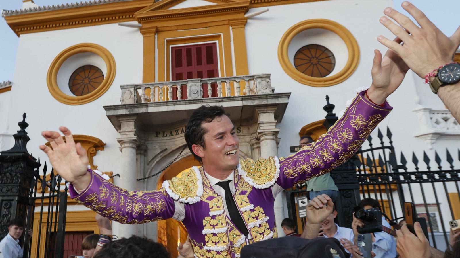
[[[288,47],[291,40],[302,31],[312,28],[332,31],[345,42],[348,49],[348,61],[339,73],[327,77],[308,76],[298,71],[289,60]],[[278,59],[283,70],[299,83],[314,87],[327,87],[345,81],[355,72],[359,63],[359,47],[355,37],[343,25],[327,19],[311,19],[295,24],[284,33],[278,45]]]

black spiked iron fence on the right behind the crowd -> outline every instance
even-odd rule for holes
[[[336,222],[351,227],[353,208],[363,198],[378,200],[382,212],[396,222],[403,219],[404,202],[414,202],[418,216],[426,218],[431,245],[445,250],[449,245],[449,220],[460,219],[460,169],[454,168],[452,154],[449,150],[442,154],[434,151],[430,156],[424,151],[420,162],[413,152],[408,163],[401,153],[398,161],[390,129],[386,131],[386,143],[380,129],[377,138],[379,143],[374,144],[369,136],[368,147],[331,172],[339,188]],[[460,150],[456,151],[460,161]],[[290,217],[298,216],[295,197],[306,194],[305,184],[288,191]],[[299,220],[298,227],[303,228],[306,220]]]

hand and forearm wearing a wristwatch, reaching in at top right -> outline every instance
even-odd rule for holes
[[[426,74],[431,73],[437,67],[453,62],[455,51],[460,45],[460,27],[449,38],[413,4],[404,1],[402,6],[414,17],[420,27],[398,11],[386,8],[385,15],[391,17],[400,26],[386,17],[381,17],[380,22],[402,39],[404,44],[395,44],[383,36],[379,36],[377,40],[395,51],[414,73],[424,79]],[[430,81],[432,79],[430,78]],[[426,87],[429,86],[426,85]],[[454,118],[460,121],[458,101],[460,99],[460,83],[440,87],[437,94]]]

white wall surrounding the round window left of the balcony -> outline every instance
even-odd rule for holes
[[[46,74],[59,52],[79,43],[94,43],[109,50],[115,58],[116,74],[113,84],[100,98],[84,105],[70,106],[52,97],[46,85]],[[142,35],[138,29],[106,24],[23,34],[19,39],[14,82],[8,111],[9,131],[17,130],[17,122],[26,112],[27,132],[31,139],[28,150],[35,157],[40,156],[42,164],[47,158],[38,146],[46,140],[40,132],[57,130],[64,125],[73,134],[103,140],[106,146],[104,151],[98,151],[94,163],[101,171],[118,171],[121,155],[116,141],[118,133],[105,116],[103,106],[120,104],[121,84],[142,82]]]

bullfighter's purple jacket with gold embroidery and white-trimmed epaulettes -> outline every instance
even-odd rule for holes
[[[158,191],[127,191],[92,173],[91,183],[70,196],[104,217],[139,224],[168,219],[174,201],[184,203],[186,227],[198,258],[234,258],[243,246],[277,237],[274,184],[282,188],[326,174],[348,160],[377,124],[391,111],[371,104],[359,93],[328,132],[289,157],[240,160],[234,173],[235,201],[249,231],[244,236],[225,214],[222,197],[211,187],[202,168],[165,181]]]

